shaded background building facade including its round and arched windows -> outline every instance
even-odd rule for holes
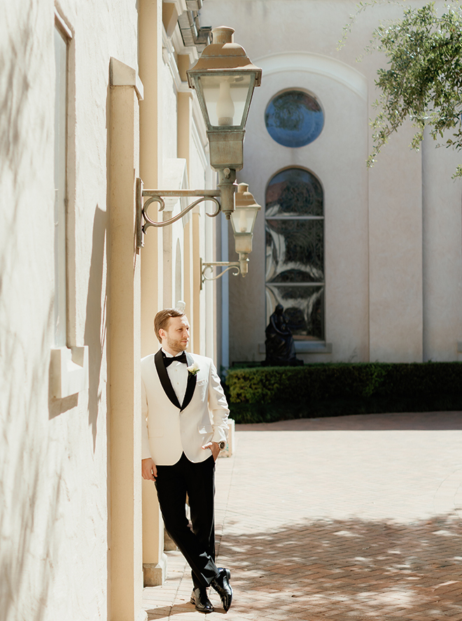
[[[374,80],[386,59],[365,48],[402,8],[367,8],[338,49],[356,10],[344,0],[204,3],[202,19],[235,28],[263,69],[239,180],[264,212],[248,277],[230,279],[231,364],[265,359],[276,304],[304,362],[461,355],[458,154],[428,137],[410,150],[406,126],[366,168]]]

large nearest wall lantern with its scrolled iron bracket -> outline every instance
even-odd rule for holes
[[[166,227],[173,224],[204,201],[213,201],[217,206],[214,213],[207,213],[209,217],[215,217],[223,211],[229,220],[235,212],[236,171],[241,170],[243,166],[243,141],[248,108],[253,89],[260,86],[262,70],[251,62],[241,45],[234,43],[234,29],[222,26],[214,29],[212,33],[214,37],[212,43],[207,45],[195,66],[186,73],[188,84],[197,92],[204,122],[207,125],[210,164],[218,171],[218,188],[144,190],[143,182],[137,179],[137,248],[144,245],[144,234],[148,227]],[[157,202],[160,205],[159,210],[162,211],[165,207],[163,200],[165,197],[198,198],[178,215],[169,220],[155,222],[148,216],[148,206]],[[248,221],[248,217],[244,219]],[[237,231],[235,235],[241,236],[242,241],[239,243],[244,243],[246,233],[239,230],[239,222],[240,220],[237,224],[233,224],[233,227]],[[248,241],[248,234],[245,239]],[[244,248],[244,245],[242,247]],[[244,255],[248,255],[248,252],[244,250],[237,252],[239,260],[243,262],[241,273],[244,276],[248,262],[247,256]],[[244,258],[241,259],[241,255]],[[244,262],[245,269],[242,269]]]

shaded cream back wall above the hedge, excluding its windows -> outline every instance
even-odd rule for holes
[[[204,2],[202,22],[235,28],[235,41],[263,69],[248,117],[239,180],[250,185],[263,206],[267,183],[285,167],[302,166],[323,185],[325,338],[332,353],[328,348],[300,358],[456,359],[462,334],[461,187],[449,180],[449,171],[455,169],[457,155],[435,150],[428,141],[420,153],[410,151],[412,128],[403,127],[374,168],[366,169],[372,149],[368,119],[378,94],[374,79],[384,59],[367,55],[357,63],[356,58],[379,20],[399,16],[401,9],[368,8],[338,50],[342,28],[355,11],[354,1]],[[290,87],[314,94],[325,114],[321,135],[297,149],[274,142],[264,124],[267,103]],[[230,278],[231,362],[265,357],[264,257],[261,214],[248,276]]]

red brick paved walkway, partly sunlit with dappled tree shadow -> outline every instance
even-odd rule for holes
[[[227,621],[462,620],[461,412],[238,425],[216,501]],[[167,555],[149,619],[203,619]]]

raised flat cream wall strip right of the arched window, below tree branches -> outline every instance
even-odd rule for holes
[[[394,136],[370,172],[372,362],[422,362],[421,157],[407,149],[411,137]]]

